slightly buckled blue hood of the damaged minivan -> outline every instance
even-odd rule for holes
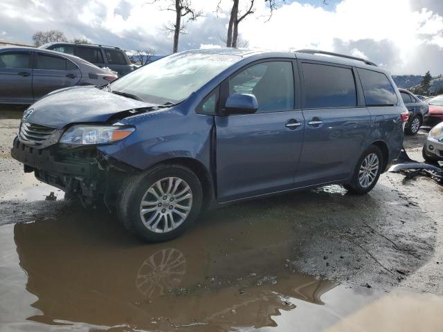
[[[153,107],[154,104],[132,100],[107,89],[94,86],[74,86],[49,93],[35,102],[26,122],[60,129],[75,122],[106,122],[112,116],[132,109]],[[25,113],[25,117],[26,117]]]

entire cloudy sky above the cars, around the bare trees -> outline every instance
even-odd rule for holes
[[[245,0],[240,0],[241,10]],[[423,5],[417,5],[419,1]],[[204,12],[188,24],[179,49],[221,46],[231,1],[192,0]],[[255,14],[239,26],[242,39],[252,48],[296,50],[318,48],[342,51],[383,63],[393,73],[421,73],[426,66],[443,70],[443,17],[426,8],[440,8],[442,0],[343,0],[334,7],[300,3],[282,4],[271,20],[265,1],[255,1]],[[168,1],[147,0],[2,0],[1,30],[6,38],[31,42],[37,30],[58,29],[66,37],[86,37],[92,42],[129,50],[154,48],[169,53],[172,37],[165,24],[174,12]],[[312,1],[311,1],[312,3]],[[424,7],[426,4],[426,8]],[[26,10],[23,10],[26,8]],[[425,53],[426,50],[426,53]],[[432,58],[428,57],[432,54]],[[429,55],[431,56],[431,55]],[[422,59],[422,60],[420,60]]]

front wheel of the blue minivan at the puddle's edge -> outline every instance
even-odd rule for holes
[[[145,213],[142,201],[146,203]],[[202,201],[203,190],[194,172],[181,165],[159,165],[123,182],[117,214],[123,225],[143,241],[168,241],[194,223]]]

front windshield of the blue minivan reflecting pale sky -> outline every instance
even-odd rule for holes
[[[111,90],[146,102],[177,103],[239,61],[237,55],[179,53],[163,57],[111,83]]]

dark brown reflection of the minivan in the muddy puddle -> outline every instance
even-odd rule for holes
[[[226,223],[208,221],[186,237],[145,245],[107,219],[78,211],[15,225],[26,289],[41,311],[28,320],[112,331],[276,326],[273,317],[296,310],[293,299],[322,304],[336,286],[284,266],[294,243],[278,221],[237,223],[248,233],[243,241],[226,238]]]

